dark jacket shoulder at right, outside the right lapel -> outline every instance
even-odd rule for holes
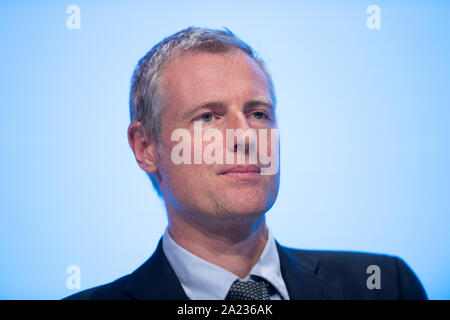
[[[420,280],[400,257],[357,251],[300,250],[280,246],[289,261],[338,284],[348,298],[427,299]],[[380,289],[368,289],[377,278]],[[372,288],[374,289],[374,288]],[[361,296],[361,294],[364,295]]]

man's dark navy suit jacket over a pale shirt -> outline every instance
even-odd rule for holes
[[[397,257],[359,252],[296,250],[276,243],[289,297],[301,299],[427,299],[413,271]],[[380,267],[381,288],[367,287],[367,267]],[[187,300],[167,260],[162,239],[133,273],[65,299]]]

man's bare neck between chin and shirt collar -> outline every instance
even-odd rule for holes
[[[240,278],[250,273],[267,243],[264,215],[251,221],[203,217],[201,223],[176,213],[168,216],[169,234],[178,245]]]

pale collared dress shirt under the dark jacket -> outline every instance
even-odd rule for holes
[[[236,279],[234,273],[212,264],[178,245],[167,228],[163,236],[163,250],[186,295],[192,300],[224,300]],[[281,276],[280,259],[272,233],[268,232],[266,246],[245,279],[252,275],[269,282],[275,290],[270,291],[271,300],[288,300],[289,295]]]

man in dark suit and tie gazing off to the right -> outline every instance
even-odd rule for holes
[[[133,75],[128,138],[167,229],[136,271],[69,298],[426,299],[399,258],[274,240],[275,105],[263,61],[228,30],[187,28],[153,47]]]

